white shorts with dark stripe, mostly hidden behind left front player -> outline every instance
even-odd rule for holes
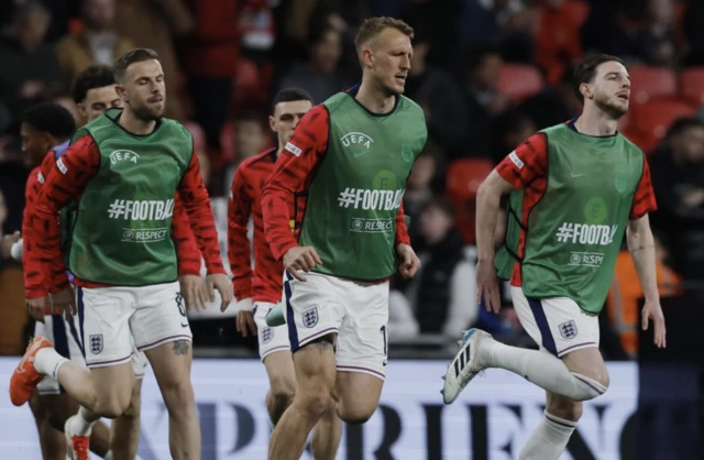
[[[36,321],[34,336],[46,337],[54,343],[54,349],[58,354],[69,359],[76,365],[85,368],[86,358],[84,357],[80,336],[81,313],[79,311],[76,317],[70,317],[68,321],[63,315],[47,315],[44,317],[44,322]],[[64,393],[64,388],[58,384],[58,381],[50,375],[42,379],[36,385],[36,390],[40,395]]]

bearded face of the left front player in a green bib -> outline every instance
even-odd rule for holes
[[[130,65],[124,84],[118,85],[118,94],[141,120],[158,120],[166,101],[164,70],[160,62],[152,59]]]

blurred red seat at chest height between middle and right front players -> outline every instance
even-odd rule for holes
[[[476,242],[476,190],[493,168],[493,163],[485,158],[455,160],[448,167],[446,196],[454,209],[455,224],[465,244]]]

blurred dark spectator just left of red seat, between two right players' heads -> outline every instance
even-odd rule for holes
[[[470,51],[465,63],[463,84],[469,123],[466,150],[460,155],[490,156],[493,120],[510,107],[508,96],[497,88],[504,59],[495,47],[477,45]]]

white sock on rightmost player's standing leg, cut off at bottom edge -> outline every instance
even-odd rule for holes
[[[519,460],[558,460],[568,447],[576,421],[544,413],[528,442],[520,449]]]

